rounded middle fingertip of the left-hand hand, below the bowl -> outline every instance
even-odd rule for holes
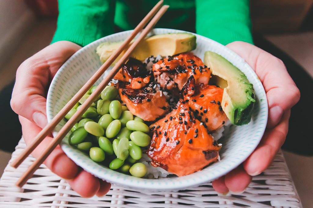
[[[74,191],[86,198],[94,196],[100,189],[98,178],[84,170],[82,170],[77,177],[67,182]]]

